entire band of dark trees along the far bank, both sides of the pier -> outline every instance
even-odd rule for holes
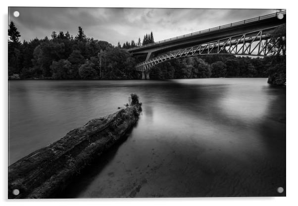
[[[139,38],[120,42],[88,38],[83,28],[73,37],[67,31],[52,32],[51,37],[19,41],[20,33],[13,22],[8,29],[8,79],[38,80],[136,80],[141,73],[135,65],[144,56],[133,57],[126,49],[142,45]],[[286,26],[275,30],[276,39],[269,46],[273,56],[250,58],[235,55],[206,55],[173,59],[150,70],[150,79],[196,78],[268,78],[268,83],[286,84]],[[278,40],[278,41],[277,41]],[[282,41],[281,41],[282,40]],[[152,32],[144,36],[143,45],[154,42]],[[280,55],[282,53],[283,55]]]

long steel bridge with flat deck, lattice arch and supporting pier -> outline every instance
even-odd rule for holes
[[[136,70],[143,73],[142,79],[149,79],[150,68],[174,58],[210,54],[266,56],[272,31],[284,23],[286,11],[280,11],[127,50],[133,55],[146,55]]]

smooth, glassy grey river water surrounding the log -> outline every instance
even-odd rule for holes
[[[8,83],[9,165],[140,96],[127,139],[61,198],[285,195],[286,89],[267,79]]]

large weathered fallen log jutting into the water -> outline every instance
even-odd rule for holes
[[[89,121],[8,167],[8,199],[55,198],[106,149],[125,136],[142,110],[138,96],[118,112]]]

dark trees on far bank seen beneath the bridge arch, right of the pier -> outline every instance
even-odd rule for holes
[[[234,55],[206,55],[173,59],[154,66],[151,79],[190,78],[267,78],[276,68],[286,72],[285,57],[236,57]]]

